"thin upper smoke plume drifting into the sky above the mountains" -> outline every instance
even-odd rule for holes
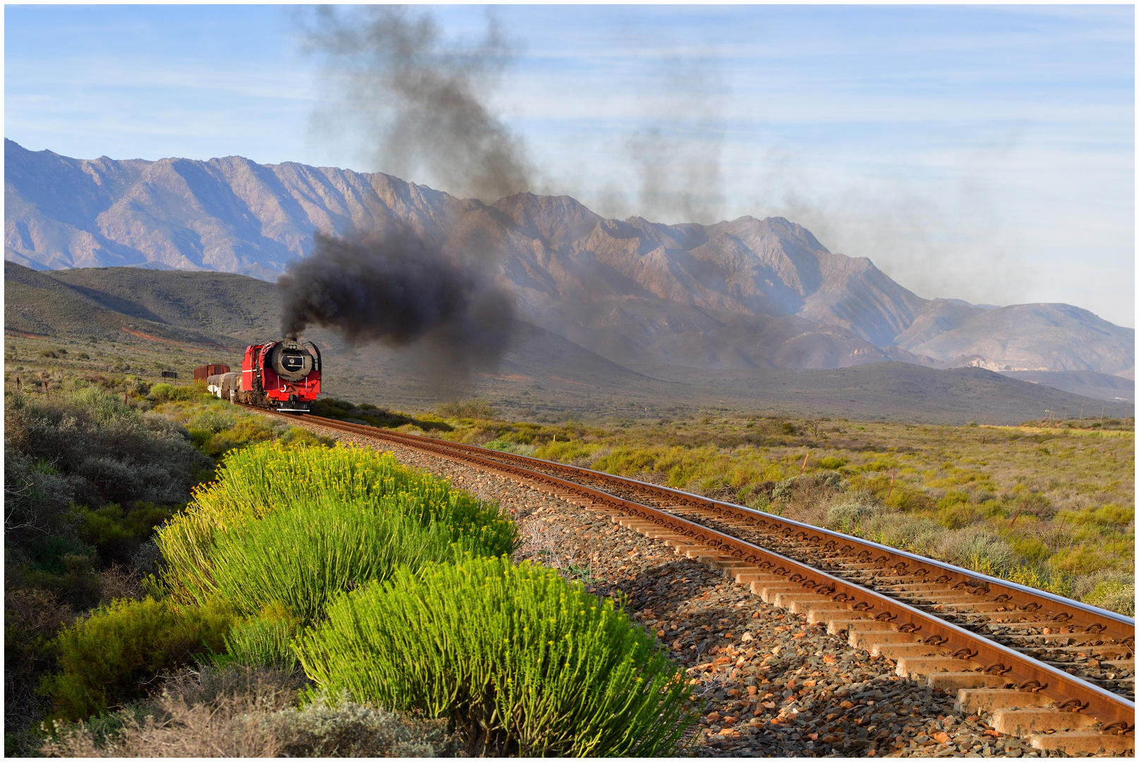
[[[407,179],[426,171],[443,190],[486,203],[530,188],[522,138],[487,105],[513,59],[493,17],[473,46],[448,42],[428,13],[400,6],[323,7],[305,32],[339,95],[318,123],[355,123],[378,169]]]

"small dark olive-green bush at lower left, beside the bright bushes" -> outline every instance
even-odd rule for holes
[[[175,608],[167,601],[115,600],[59,633],[59,673],[41,690],[59,714],[81,720],[142,698],[142,681],[220,652],[236,616],[224,604]]]

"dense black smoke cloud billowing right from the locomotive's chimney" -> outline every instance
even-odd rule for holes
[[[484,275],[408,230],[316,233],[310,256],[277,279],[281,331],[329,328],[350,344],[415,347],[428,370],[460,379],[498,362],[514,300]]]

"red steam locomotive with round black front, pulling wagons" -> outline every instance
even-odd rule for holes
[[[228,369],[227,369],[228,370]],[[289,337],[245,347],[241,372],[206,378],[212,394],[280,412],[309,412],[320,394],[320,350]]]

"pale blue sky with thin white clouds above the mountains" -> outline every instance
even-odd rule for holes
[[[448,36],[485,28],[481,6],[423,10]],[[7,6],[5,134],[81,158],[401,166],[461,195],[318,126],[328,89],[300,50],[304,13]],[[1134,326],[1131,6],[491,13],[517,55],[487,98],[536,192],[664,222],[782,215],[920,296],[1067,302]]]

